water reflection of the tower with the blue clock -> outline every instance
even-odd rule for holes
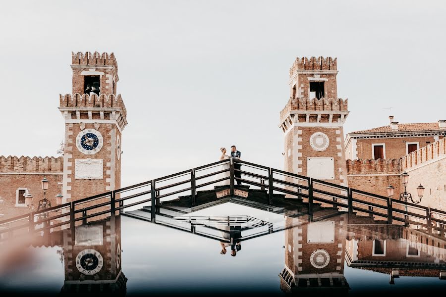
[[[120,217],[76,226],[75,242],[64,232],[65,283],[62,292],[114,292],[124,295]]]

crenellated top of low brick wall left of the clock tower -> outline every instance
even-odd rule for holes
[[[1,173],[62,173],[63,157],[0,156]]]

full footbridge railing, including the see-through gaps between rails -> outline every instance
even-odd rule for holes
[[[187,206],[194,206],[197,203],[197,191],[213,190],[222,184],[229,187],[227,196],[237,197],[237,181],[250,185],[252,190],[267,191],[269,204],[274,203],[277,194],[300,199],[307,203],[310,215],[315,206],[322,204],[388,223],[416,225],[429,233],[442,236],[446,231],[445,211],[230,158],[0,221],[0,241],[13,234],[74,228],[91,220],[144,206],[148,207],[152,221],[156,222],[160,202],[190,196],[190,205]]]

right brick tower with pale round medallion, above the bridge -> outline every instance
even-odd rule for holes
[[[286,171],[347,186],[347,99],[337,99],[336,74],[336,59],[296,58],[279,127],[285,136]]]

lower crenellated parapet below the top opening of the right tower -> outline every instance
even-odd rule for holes
[[[280,111],[280,121],[292,110],[347,111],[348,99],[290,98],[282,111]]]

